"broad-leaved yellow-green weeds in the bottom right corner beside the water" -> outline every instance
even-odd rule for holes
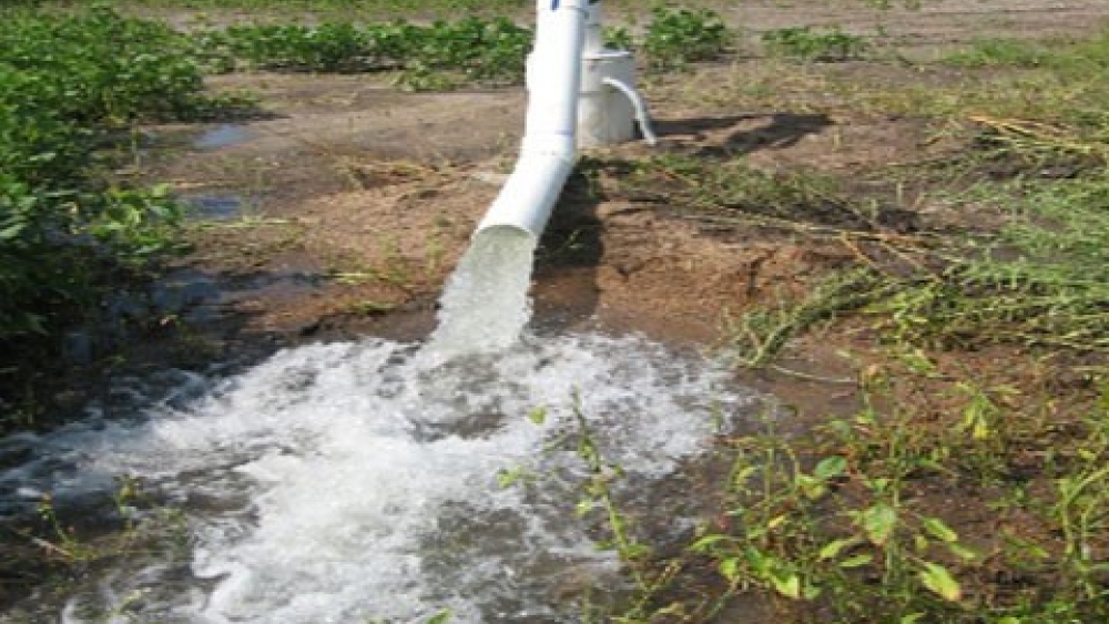
[[[995,433],[975,438],[929,423],[919,407],[882,407],[905,396],[907,388],[898,385],[920,383],[917,375],[872,370],[863,380],[863,409],[831,420],[811,438],[780,433],[775,417],[767,417],[762,431],[729,439],[735,460],[723,488],[730,498],[692,542],[690,556],[708,559],[724,583],[725,601],[759,593],[777,602],[783,621],[1103,618],[1105,564],[1093,553],[1103,545],[1107,498],[1092,487],[1103,470],[1095,466],[1106,452],[1098,433],[1103,413],[1087,421],[1090,439],[1074,458],[1044,464],[1044,477],[1034,477],[1056,485],[1022,499],[1015,513],[1030,510],[1042,524],[1018,529],[1003,512],[1003,535],[971,536],[966,519],[996,514],[995,497],[1015,495],[1025,484],[987,485],[976,467],[953,461],[985,449],[984,440]],[[1019,422],[1008,426],[1024,430]],[[963,502],[937,508],[934,493],[945,490],[952,491],[945,500]],[[1060,549],[1051,545],[1055,534],[1064,535]],[[1020,576],[1035,579],[1040,591],[1007,586],[1007,579]],[[702,611],[690,621],[710,617]]]

